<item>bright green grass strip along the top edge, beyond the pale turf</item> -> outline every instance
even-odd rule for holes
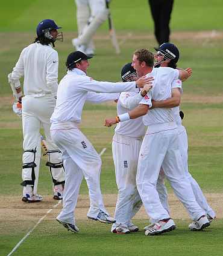
[[[147,0],[119,0],[110,4],[117,30],[151,33],[153,22]],[[177,0],[171,16],[172,30],[221,30],[221,0]],[[34,31],[42,19],[55,19],[64,31],[77,31],[74,1],[12,0],[1,4],[0,31]],[[107,24],[102,25],[107,30]]]

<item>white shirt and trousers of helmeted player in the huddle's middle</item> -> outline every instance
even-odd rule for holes
[[[137,107],[143,99],[139,89],[121,93],[117,102],[118,116]],[[115,164],[118,199],[115,209],[115,220],[111,231],[118,226],[128,228],[131,218],[142,205],[136,188],[136,172],[139,151],[145,135],[142,117],[119,122],[112,140],[112,154]]]

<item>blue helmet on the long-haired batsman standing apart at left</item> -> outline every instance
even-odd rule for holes
[[[37,36],[45,36],[45,38],[52,39],[51,34],[49,33],[53,29],[59,29],[57,24],[52,19],[43,19],[39,22],[36,28]]]

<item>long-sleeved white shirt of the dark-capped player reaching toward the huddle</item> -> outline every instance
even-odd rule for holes
[[[134,91],[136,82],[98,82],[87,76],[82,70],[74,68],[61,79],[57,91],[57,102],[51,122],[81,122],[84,103],[88,91],[98,93],[121,93]]]

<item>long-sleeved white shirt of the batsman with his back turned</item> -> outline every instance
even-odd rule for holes
[[[19,80],[22,76],[24,76],[25,95],[55,95],[58,87],[57,51],[51,45],[42,45],[37,42],[28,45],[20,53],[11,74],[14,80]]]

